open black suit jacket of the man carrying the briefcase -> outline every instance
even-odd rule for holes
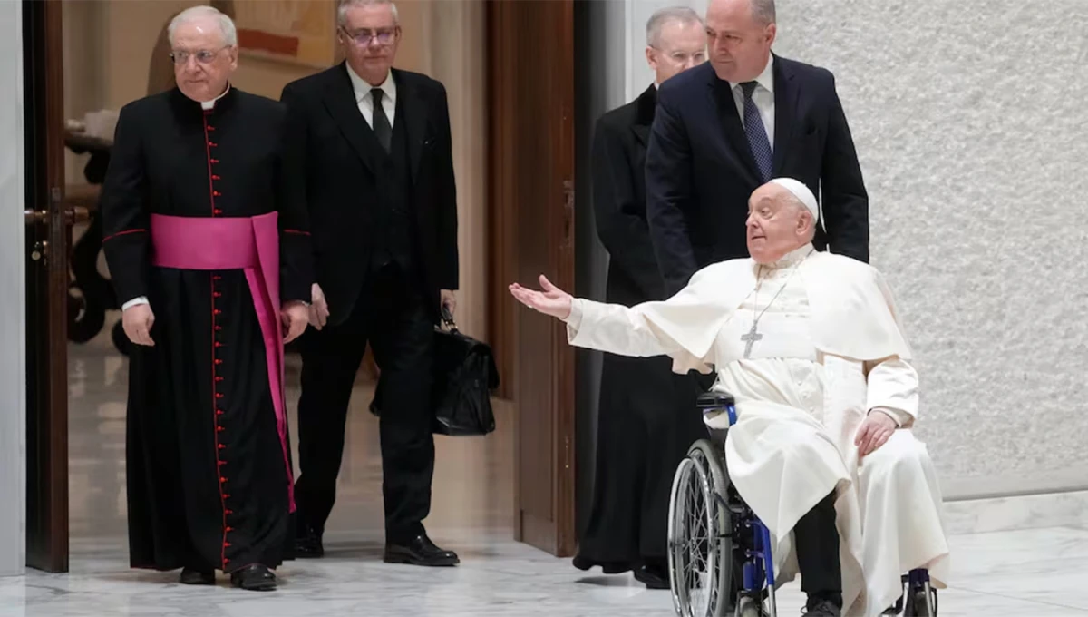
[[[411,190],[424,295],[440,318],[438,291],[458,286],[457,189],[446,89],[425,75],[393,70],[397,114],[408,137]],[[374,233],[375,173],[367,147],[370,127],[359,111],[345,63],[287,84],[288,143],[305,185],[316,277],[329,300],[329,320],[351,314],[370,272]]]

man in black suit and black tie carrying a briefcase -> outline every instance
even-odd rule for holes
[[[392,69],[400,40],[388,0],[344,0],[345,62],[288,84],[294,170],[316,251],[310,332],[300,341],[297,551],[323,554],[344,424],[369,341],[381,369],[385,560],[452,566],[423,528],[434,437],[431,365],[441,308],[458,281],[457,203],[442,84]]]

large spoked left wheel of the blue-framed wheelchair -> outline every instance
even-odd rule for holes
[[[732,604],[728,488],[719,448],[695,442],[677,468],[669,501],[669,582],[680,617],[726,617]]]

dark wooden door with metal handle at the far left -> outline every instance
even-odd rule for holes
[[[69,569],[67,310],[60,0],[24,0],[26,565]]]

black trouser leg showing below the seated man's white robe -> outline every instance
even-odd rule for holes
[[[839,529],[834,526],[834,492],[801,517],[793,528],[801,591],[812,602],[828,600],[842,607]]]

